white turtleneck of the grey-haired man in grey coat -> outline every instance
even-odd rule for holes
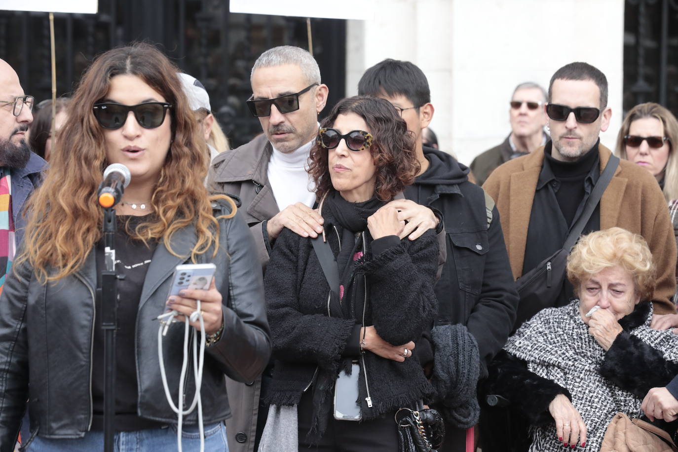
[[[315,203],[315,184],[308,173],[308,154],[315,138],[300,148],[283,154],[275,147],[268,161],[268,183],[278,209],[283,210],[294,203],[304,203],[313,207]]]

